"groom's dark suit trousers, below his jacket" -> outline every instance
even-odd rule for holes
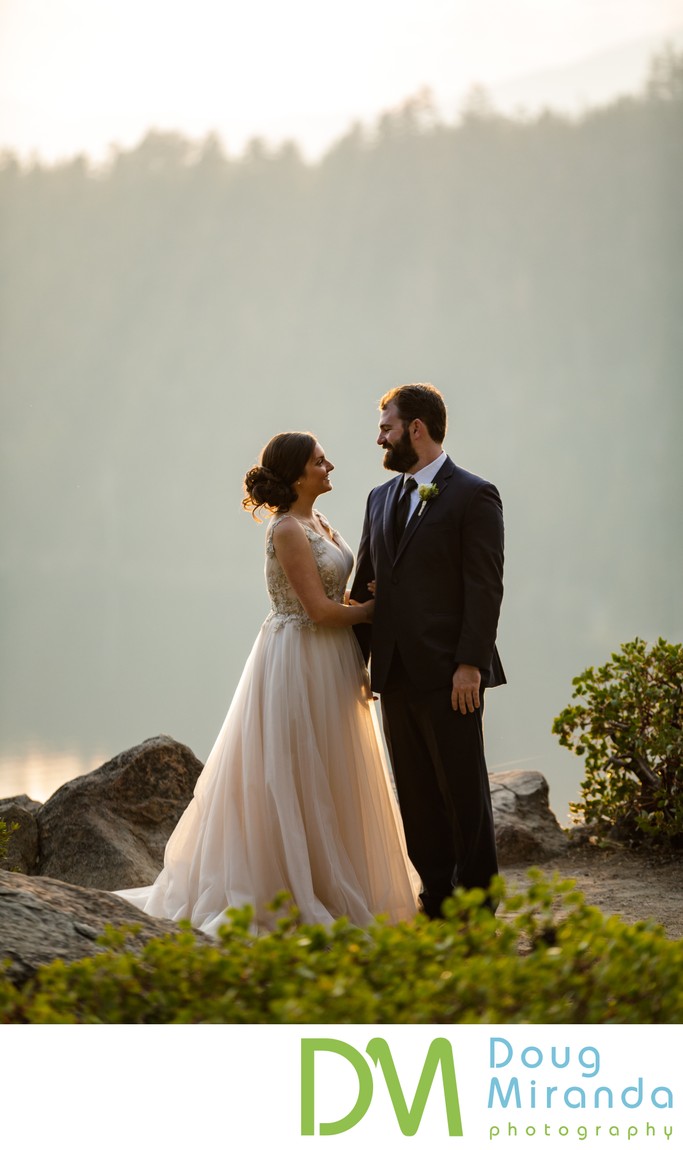
[[[463,715],[453,711],[451,685],[416,691],[394,656],[381,695],[408,854],[431,915],[456,887],[488,889],[498,873],[483,693],[481,707]]]

